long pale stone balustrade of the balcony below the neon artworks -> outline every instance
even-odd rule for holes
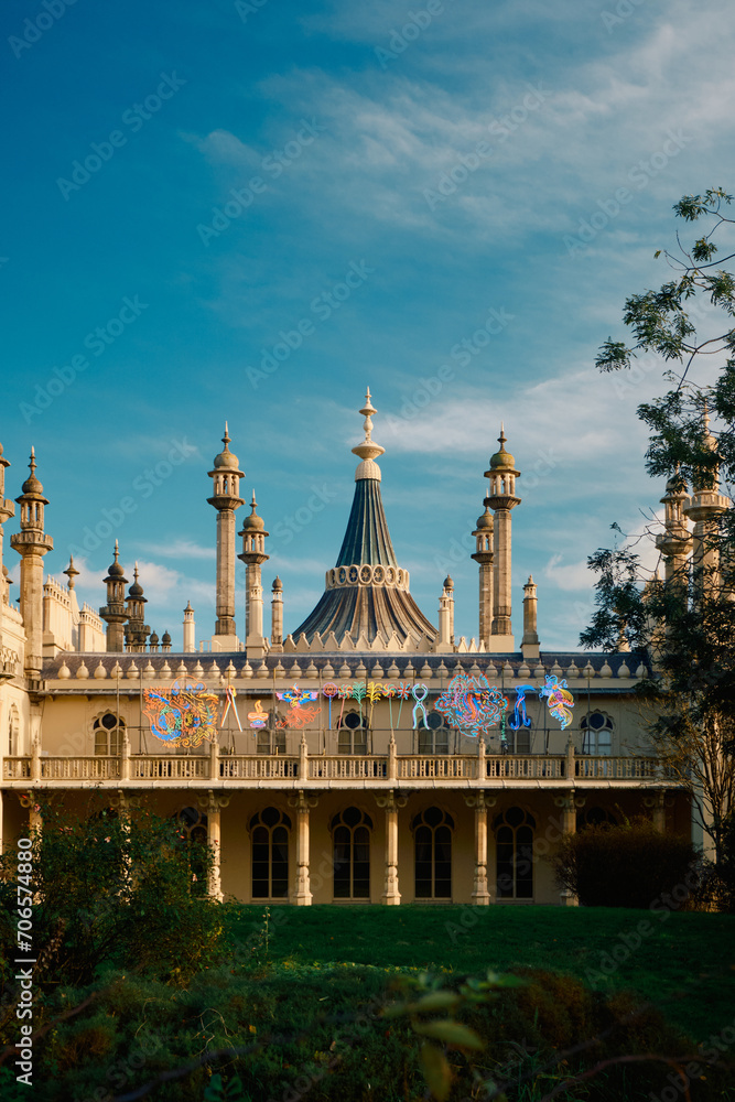
[[[263,781],[273,787],[302,782],[307,787],[334,784],[382,782],[380,787],[411,788],[431,785],[472,784],[473,787],[502,788],[539,786],[585,787],[610,784],[624,786],[669,785],[677,778],[652,757],[593,757],[568,754],[223,754],[213,747],[206,755],[129,754],[54,757],[35,753],[3,759],[3,782],[13,787],[67,785],[156,788],[160,785],[224,784],[249,788]]]

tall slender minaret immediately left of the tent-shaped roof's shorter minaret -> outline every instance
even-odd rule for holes
[[[235,510],[242,505],[239,488],[245,474],[239,469],[237,455],[229,450],[229,441],[225,422],[225,447],[215,455],[214,469],[209,472],[214,496],[207,498],[217,510],[217,623],[212,639],[217,650],[237,650],[239,645],[235,627]]]

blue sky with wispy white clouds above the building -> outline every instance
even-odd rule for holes
[[[208,638],[227,419],[294,628],[339,549],[369,385],[424,613],[448,568],[477,634],[467,533],[504,420],[517,639],[532,572],[542,648],[576,647],[586,557],[662,493],[635,415],[660,367],[623,381],[594,357],[666,278],[672,204],[733,190],[732,4],[9,0],[2,24],[0,440],[12,497],[35,445],[47,570],[78,549],[99,606],[117,537],[151,627],[180,644],[191,599]]]

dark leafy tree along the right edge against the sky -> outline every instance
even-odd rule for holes
[[[666,476],[674,494],[717,493],[721,479],[735,476],[735,276],[725,267],[735,259],[732,202],[715,187],[674,205],[679,218],[705,228],[687,246],[677,234],[675,252],[658,250],[673,278],[626,301],[623,321],[634,341],[608,338],[596,360],[613,371],[644,353],[660,357],[670,389],[637,412],[650,433],[647,471]],[[648,651],[653,673],[636,691],[650,709],[663,764],[699,807],[717,863],[735,800],[735,510],[725,505],[702,529],[696,561],[667,559],[664,549],[663,579],[642,569],[630,540],[591,555],[596,611],[581,636],[586,647]],[[656,527],[637,541],[656,539]]]

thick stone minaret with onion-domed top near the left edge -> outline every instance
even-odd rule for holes
[[[10,545],[21,555],[21,616],[25,627],[25,676],[41,680],[43,668],[43,557],[54,541],[43,531],[43,508],[48,501],[35,477],[35,452],[31,449],[30,476],[15,500],[21,507],[21,530]]]

